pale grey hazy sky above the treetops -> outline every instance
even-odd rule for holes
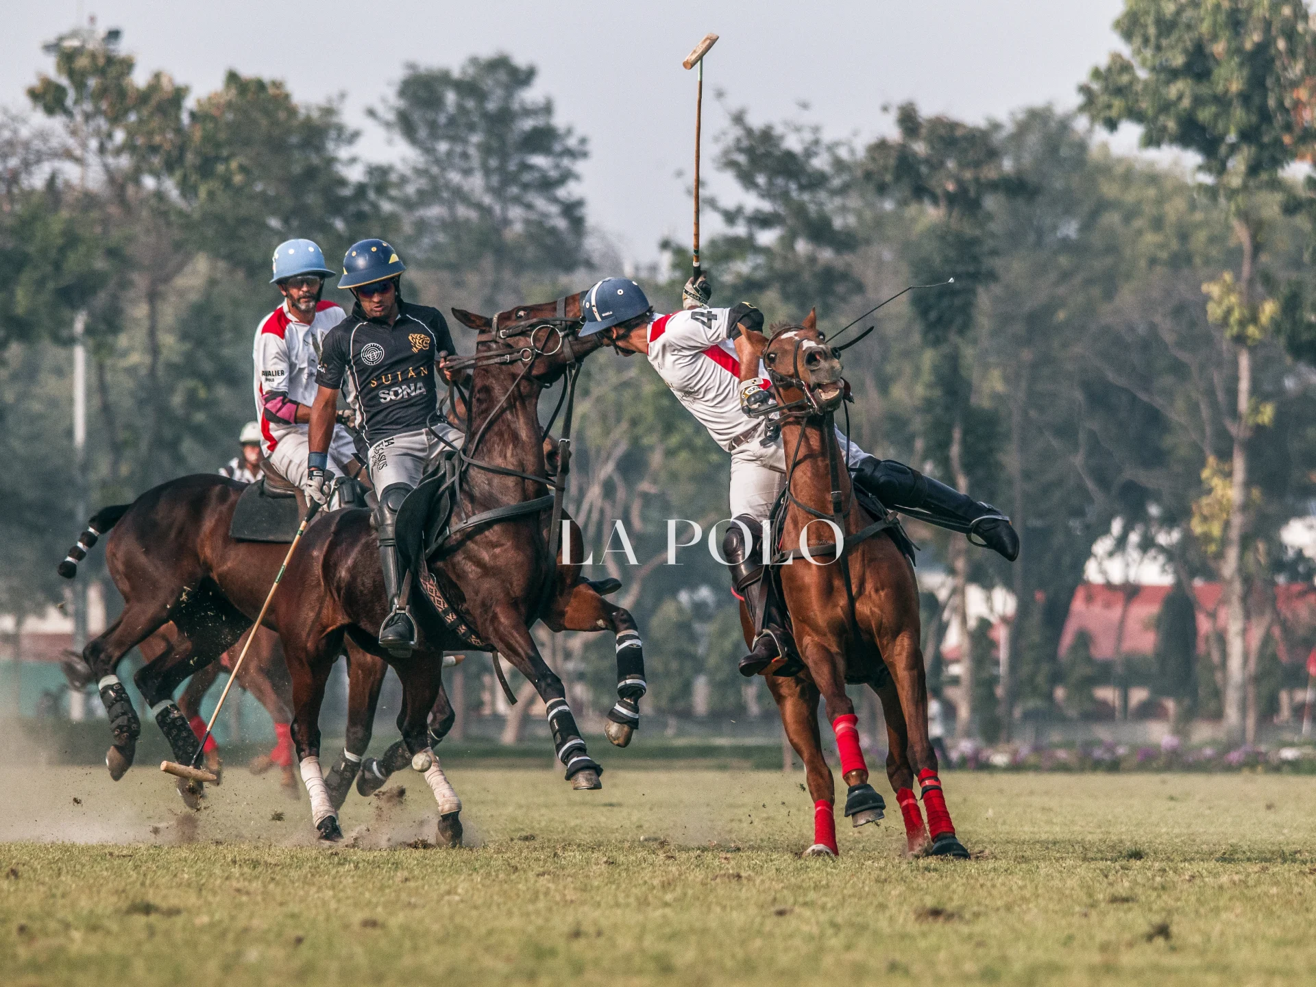
[[[726,117],[713,89],[726,105],[747,107],[755,121],[804,118],[833,137],[890,130],[882,105],[907,99],[926,113],[971,121],[1004,118],[1029,104],[1073,107],[1075,86],[1120,46],[1111,22],[1121,7],[1120,0],[47,0],[5,13],[0,104],[25,108],[24,88],[50,64],[42,42],[95,13],[100,26],[124,30],[122,46],[139,72],[163,68],[193,93],[216,88],[232,67],[286,79],[299,100],[342,95],[347,120],[363,130],[359,153],[386,159],[397,149],[365,108],[386,97],[407,62],[457,66],[470,55],[507,51],[538,66],[538,88],[554,99],[559,120],[590,138],[582,175],[591,224],[628,255],[650,261],[663,236],[690,236],[695,75],[680,59],[707,32],[721,41],[705,70],[705,153]],[[707,163],[704,176],[716,191]]]

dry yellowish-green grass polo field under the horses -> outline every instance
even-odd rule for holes
[[[230,771],[184,815],[149,767],[0,771],[0,980],[1316,980],[1304,778],[948,774],[976,855],[954,862],[901,857],[890,795],[879,826],[841,826],[840,861],[797,858],[801,775],[450,774],[474,848],[407,845],[433,836],[409,772],[400,801],[353,794],[357,846],[324,849],[270,778]]]

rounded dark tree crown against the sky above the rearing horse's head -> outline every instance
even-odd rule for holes
[[[372,113],[411,153],[399,180],[413,253],[478,275],[487,311],[586,259],[572,186],[587,142],[554,120],[551,99],[530,96],[534,76],[503,54],[457,72],[408,64],[393,101]]]

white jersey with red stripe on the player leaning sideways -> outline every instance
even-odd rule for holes
[[[757,429],[740,407],[740,359],[730,332],[729,309],[694,308],[658,316],[649,325],[649,362],[671,392],[725,451],[732,442]],[[758,375],[766,388],[767,368]],[[744,442],[744,438],[741,440]]]

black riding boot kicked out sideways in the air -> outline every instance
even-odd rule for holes
[[[890,508],[953,532],[962,532],[1013,562],[1019,558],[1019,534],[1009,519],[991,504],[974,500],[954,487],[924,476],[895,459],[869,457],[854,468],[855,484]],[[976,544],[976,542],[975,542]]]

